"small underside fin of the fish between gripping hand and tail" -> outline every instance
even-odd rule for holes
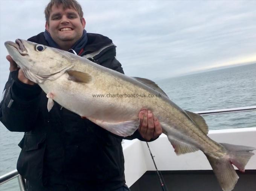
[[[172,144],[172,147],[174,148],[174,152],[176,153],[176,155],[181,155],[181,154],[185,154],[185,153],[192,153],[192,152],[196,152],[199,149],[197,147],[194,147],[192,145],[186,144],[184,142],[178,141],[174,138],[169,138],[169,141]]]

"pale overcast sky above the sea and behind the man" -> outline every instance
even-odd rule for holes
[[[0,0],[0,91],[5,41],[44,31],[48,0]],[[256,62],[256,1],[78,1],[89,33],[111,38],[125,74],[165,78]]]

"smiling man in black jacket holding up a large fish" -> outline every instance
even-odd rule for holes
[[[29,41],[77,53],[123,73],[111,39],[87,33],[81,6],[75,0],[51,0],[45,9],[46,30]],[[19,143],[18,172],[28,191],[124,191],[121,141],[91,121],[54,104],[47,111],[46,94],[24,76],[8,55],[10,76],[1,102],[0,120],[11,131],[25,132]],[[139,113],[140,127],[125,139],[152,141],[162,128],[151,111]]]

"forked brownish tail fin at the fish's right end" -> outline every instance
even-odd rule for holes
[[[244,172],[245,165],[250,160],[251,156],[254,155],[251,151],[256,148],[226,143],[220,144],[227,150],[225,156],[216,158],[207,155],[206,153],[205,155],[212,166],[213,172],[215,173],[222,190],[231,191],[239,179],[232,164],[240,171]]]

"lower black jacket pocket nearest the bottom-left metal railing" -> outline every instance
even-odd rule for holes
[[[46,134],[25,133],[18,146],[21,147],[17,170],[25,179],[43,185],[43,159]]]

